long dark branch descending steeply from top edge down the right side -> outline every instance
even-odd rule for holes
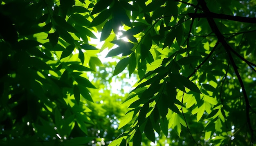
[[[198,0],[198,3],[201,5],[204,13],[209,13],[209,9],[207,7],[207,4],[204,0]],[[225,37],[220,33],[220,30],[218,29],[217,27],[217,24],[215,23],[215,21],[213,20],[213,18],[211,17],[207,17],[207,21],[209,23],[209,26],[211,27],[211,30],[213,31],[213,33],[216,34],[216,37],[218,38],[218,41],[224,46],[226,52],[227,52],[227,55],[229,57],[229,60],[231,62],[231,65],[233,66],[234,68],[234,71],[235,71],[235,74],[236,76],[238,77],[238,81],[240,83],[240,86],[242,88],[242,92],[243,92],[243,95],[245,97],[245,109],[246,109],[246,117],[247,117],[247,123],[248,123],[248,126],[249,126],[249,129],[250,129],[250,132],[252,133],[252,137],[254,135],[254,131],[252,129],[252,125],[251,125],[251,120],[250,120],[250,117],[249,117],[249,108],[250,108],[250,104],[249,104],[249,99],[247,97],[247,93],[245,91],[245,86],[243,84],[243,80],[238,72],[238,67],[236,66],[236,63],[231,55],[231,50],[233,50],[231,48],[231,46],[225,41]]]

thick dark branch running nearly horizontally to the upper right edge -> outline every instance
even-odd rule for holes
[[[217,18],[217,19],[233,20],[233,21],[238,21],[238,22],[256,23],[256,18],[225,15],[225,14],[218,14],[218,13],[213,13],[213,12],[188,13],[188,15],[191,18]]]

